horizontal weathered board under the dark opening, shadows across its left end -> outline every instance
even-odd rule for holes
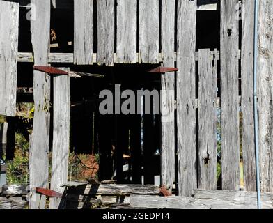
[[[70,183],[68,183],[69,185]],[[89,195],[126,195],[126,194],[159,194],[156,185],[82,185],[68,187],[68,194]]]

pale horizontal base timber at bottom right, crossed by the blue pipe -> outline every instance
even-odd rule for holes
[[[273,193],[263,193],[262,208],[273,208]],[[196,190],[191,197],[130,195],[130,206],[171,209],[256,209],[256,192]]]

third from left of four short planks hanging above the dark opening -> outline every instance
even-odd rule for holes
[[[118,0],[117,63],[137,63],[137,0]]]

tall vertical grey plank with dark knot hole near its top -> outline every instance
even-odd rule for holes
[[[223,190],[240,189],[238,0],[221,0],[221,169]]]

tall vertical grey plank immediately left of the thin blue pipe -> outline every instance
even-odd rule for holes
[[[253,40],[254,1],[243,1],[242,8],[242,155],[244,163],[244,189],[256,190],[255,140],[253,114]]]

